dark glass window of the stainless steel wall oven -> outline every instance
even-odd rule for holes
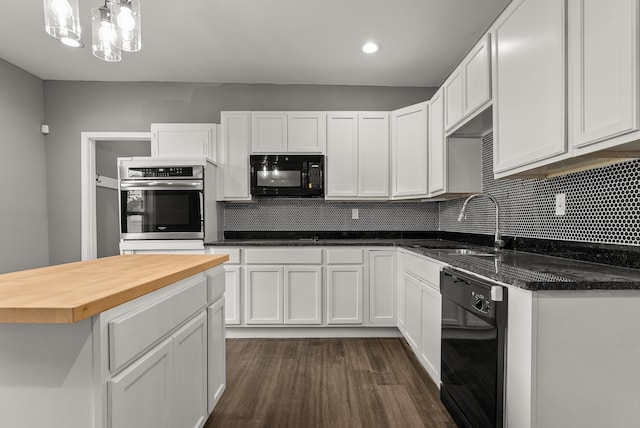
[[[121,194],[122,232],[201,232],[200,190],[128,190]]]

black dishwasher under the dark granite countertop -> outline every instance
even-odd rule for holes
[[[502,428],[507,289],[444,268],[440,291],[443,309],[440,399],[459,427]]]

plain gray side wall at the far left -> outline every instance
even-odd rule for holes
[[[49,263],[43,83],[0,59],[0,273]]]

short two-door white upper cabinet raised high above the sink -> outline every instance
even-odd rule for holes
[[[486,34],[442,85],[444,127],[451,131],[491,101],[491,44]]]

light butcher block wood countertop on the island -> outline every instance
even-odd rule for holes
[[[75,323],[229,260],[130,254],[0,275],[0,323]]]

